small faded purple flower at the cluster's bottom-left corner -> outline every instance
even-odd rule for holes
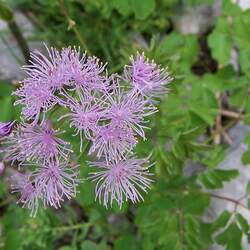
[[[20,193],[17,203],[31,210],[31,216],[35,216],[39,207],[39,190],[32,181],[31,173],[15,173],[10,177],[12,192]]]

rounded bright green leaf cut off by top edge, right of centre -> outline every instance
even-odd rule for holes
[[[155,8],[155,0],[132,0],[132,8],[139,20],[147,18]]]

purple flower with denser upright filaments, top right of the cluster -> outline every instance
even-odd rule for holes
[[[166,69],[150,62],[144,54],[131,57],[131,65],[125,66],[124,77],[142,95],[160,97],[166,93],[166,85],[172,78]]]

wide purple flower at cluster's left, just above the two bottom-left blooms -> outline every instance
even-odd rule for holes
[[[67,158],[71,150],[67,142],[57,137],[61,133],[52,128],[50,121],[41,125],[22,124],[6,142],[6,160],[22,164],[24,161]]]

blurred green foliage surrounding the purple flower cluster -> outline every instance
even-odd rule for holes
[[[213,144],[225,132],[216,128],[221,105],[250,122],[250,11],[224,0],[214,26],[201,34],[183,35],[173,24],[183,8],[213,2],[9,0],[7,9],[1,2],[1,17],[8,15],[8,8],[18,9],[34,24],[36,32],[29,40],[56,47],[82,46],[108,61],[110,72],[119,71],[130,54],[143,50],[168,66],[175,80],[150,122],[148,140],[137,147],[138,155],[152,153],[155,161],[155,181],[143,203],[107,210],[95,202],[94,186],[86,180],[75,201],[59,210],[40,210],[36,218],[30,218],[1,182],[0,248],[200,250],[217,243],[238,250],[243,249],[243,236],[250,241],[248,221],[237,210],[238,197],[230,201],[212,192],[239,174],[236,169],[218,168],[226,154],[224,144]],[[238,67],[230,63],[232,50],[238,53]],[[20,110],[12,107],[13,89],[0,83],[1,121],[18,120]],[[218,96],[226,96],[223,104]],[[237,120],[226,117],[222,125],[227,128]],[[77,150],[78,139],[70,135],[67,130],[64,136]],[[245,142],[250,145],[249,135]],[[86,160],[86,155],[78,158],[83,178],[88,174]],[[184,174],[190,162],[194,171]],[[242,162],[250,163],[249,149]],[[236,209],[205,222],[202,216],[211,197],[233,202]]]

